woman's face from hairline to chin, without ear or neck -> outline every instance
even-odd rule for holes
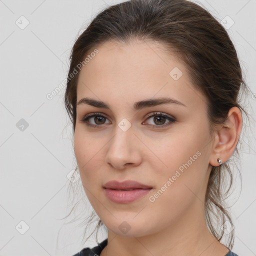
[[[180,221],[191,225],[202,216],[210,170],[206,98],[159,43],[107,41],[97,50],[79,73],[74,132],[92,207],[108,230],[122,236],[173,229]],[[167,97],[172,100],[155,101]],[[94,116],[82,121],[88,114]],[[105,189],[111,180],[135,180],[151,189]],[[131,200],[139,191],[142,196]]]

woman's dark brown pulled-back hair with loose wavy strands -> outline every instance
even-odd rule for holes
[[[110,39],[124,43],[132,39],[157,41],[165,46],[166,52],[174,52],[185,64],[194,86],[208,99],[211,131],[214,124],[227,118],[228,110],[233,106],[247,115],[238,99],[239,91],[246,91],[247,85],[236,50],[224,27],[207,10],[186,0],[130,0],[98,13],[72,47],[64,103],[73,132],[79,72],[72,78],[70,75],[86,54]],[[237,147],[234,153],[238,153]],[[207,226],[217,240],[221,240],[224,230],[219,230],[216,223],[223,225],[225,220],[230,222],[232,229],[227,246],[231,249],[233,224],[224,204],[232,184],[228,162],[212,166],[204,209]],[[223,190],[225,182],[229,184],[226,191]],[[99,219],[97,228],[101,225]]]

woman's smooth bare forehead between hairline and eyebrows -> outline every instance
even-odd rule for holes
[[[114,99],[136,101],[163,95],[190,104],[199,98],[206,101],[192,85],[184,64],[159,42],[112,40],[96,48],[98,53],[80,70],[77,101],[87,95],[109,104]]]

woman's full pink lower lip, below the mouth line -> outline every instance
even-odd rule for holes
[[[110,188],[104,188],[106,196],[113,202],[116,203],[127,203],[132,202],[143,195],[147,194],[152,188],[142,189],[137,188],[133,190],[116,190]]]

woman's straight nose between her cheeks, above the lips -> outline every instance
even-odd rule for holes
[[[139,149],[141,142],[133,133],[132,126],[126,131],[117,126],[114,136],[107,145],[105,161],[113,168],[124,169],[126,166],[131,167],[140,164],[142,160]]]

